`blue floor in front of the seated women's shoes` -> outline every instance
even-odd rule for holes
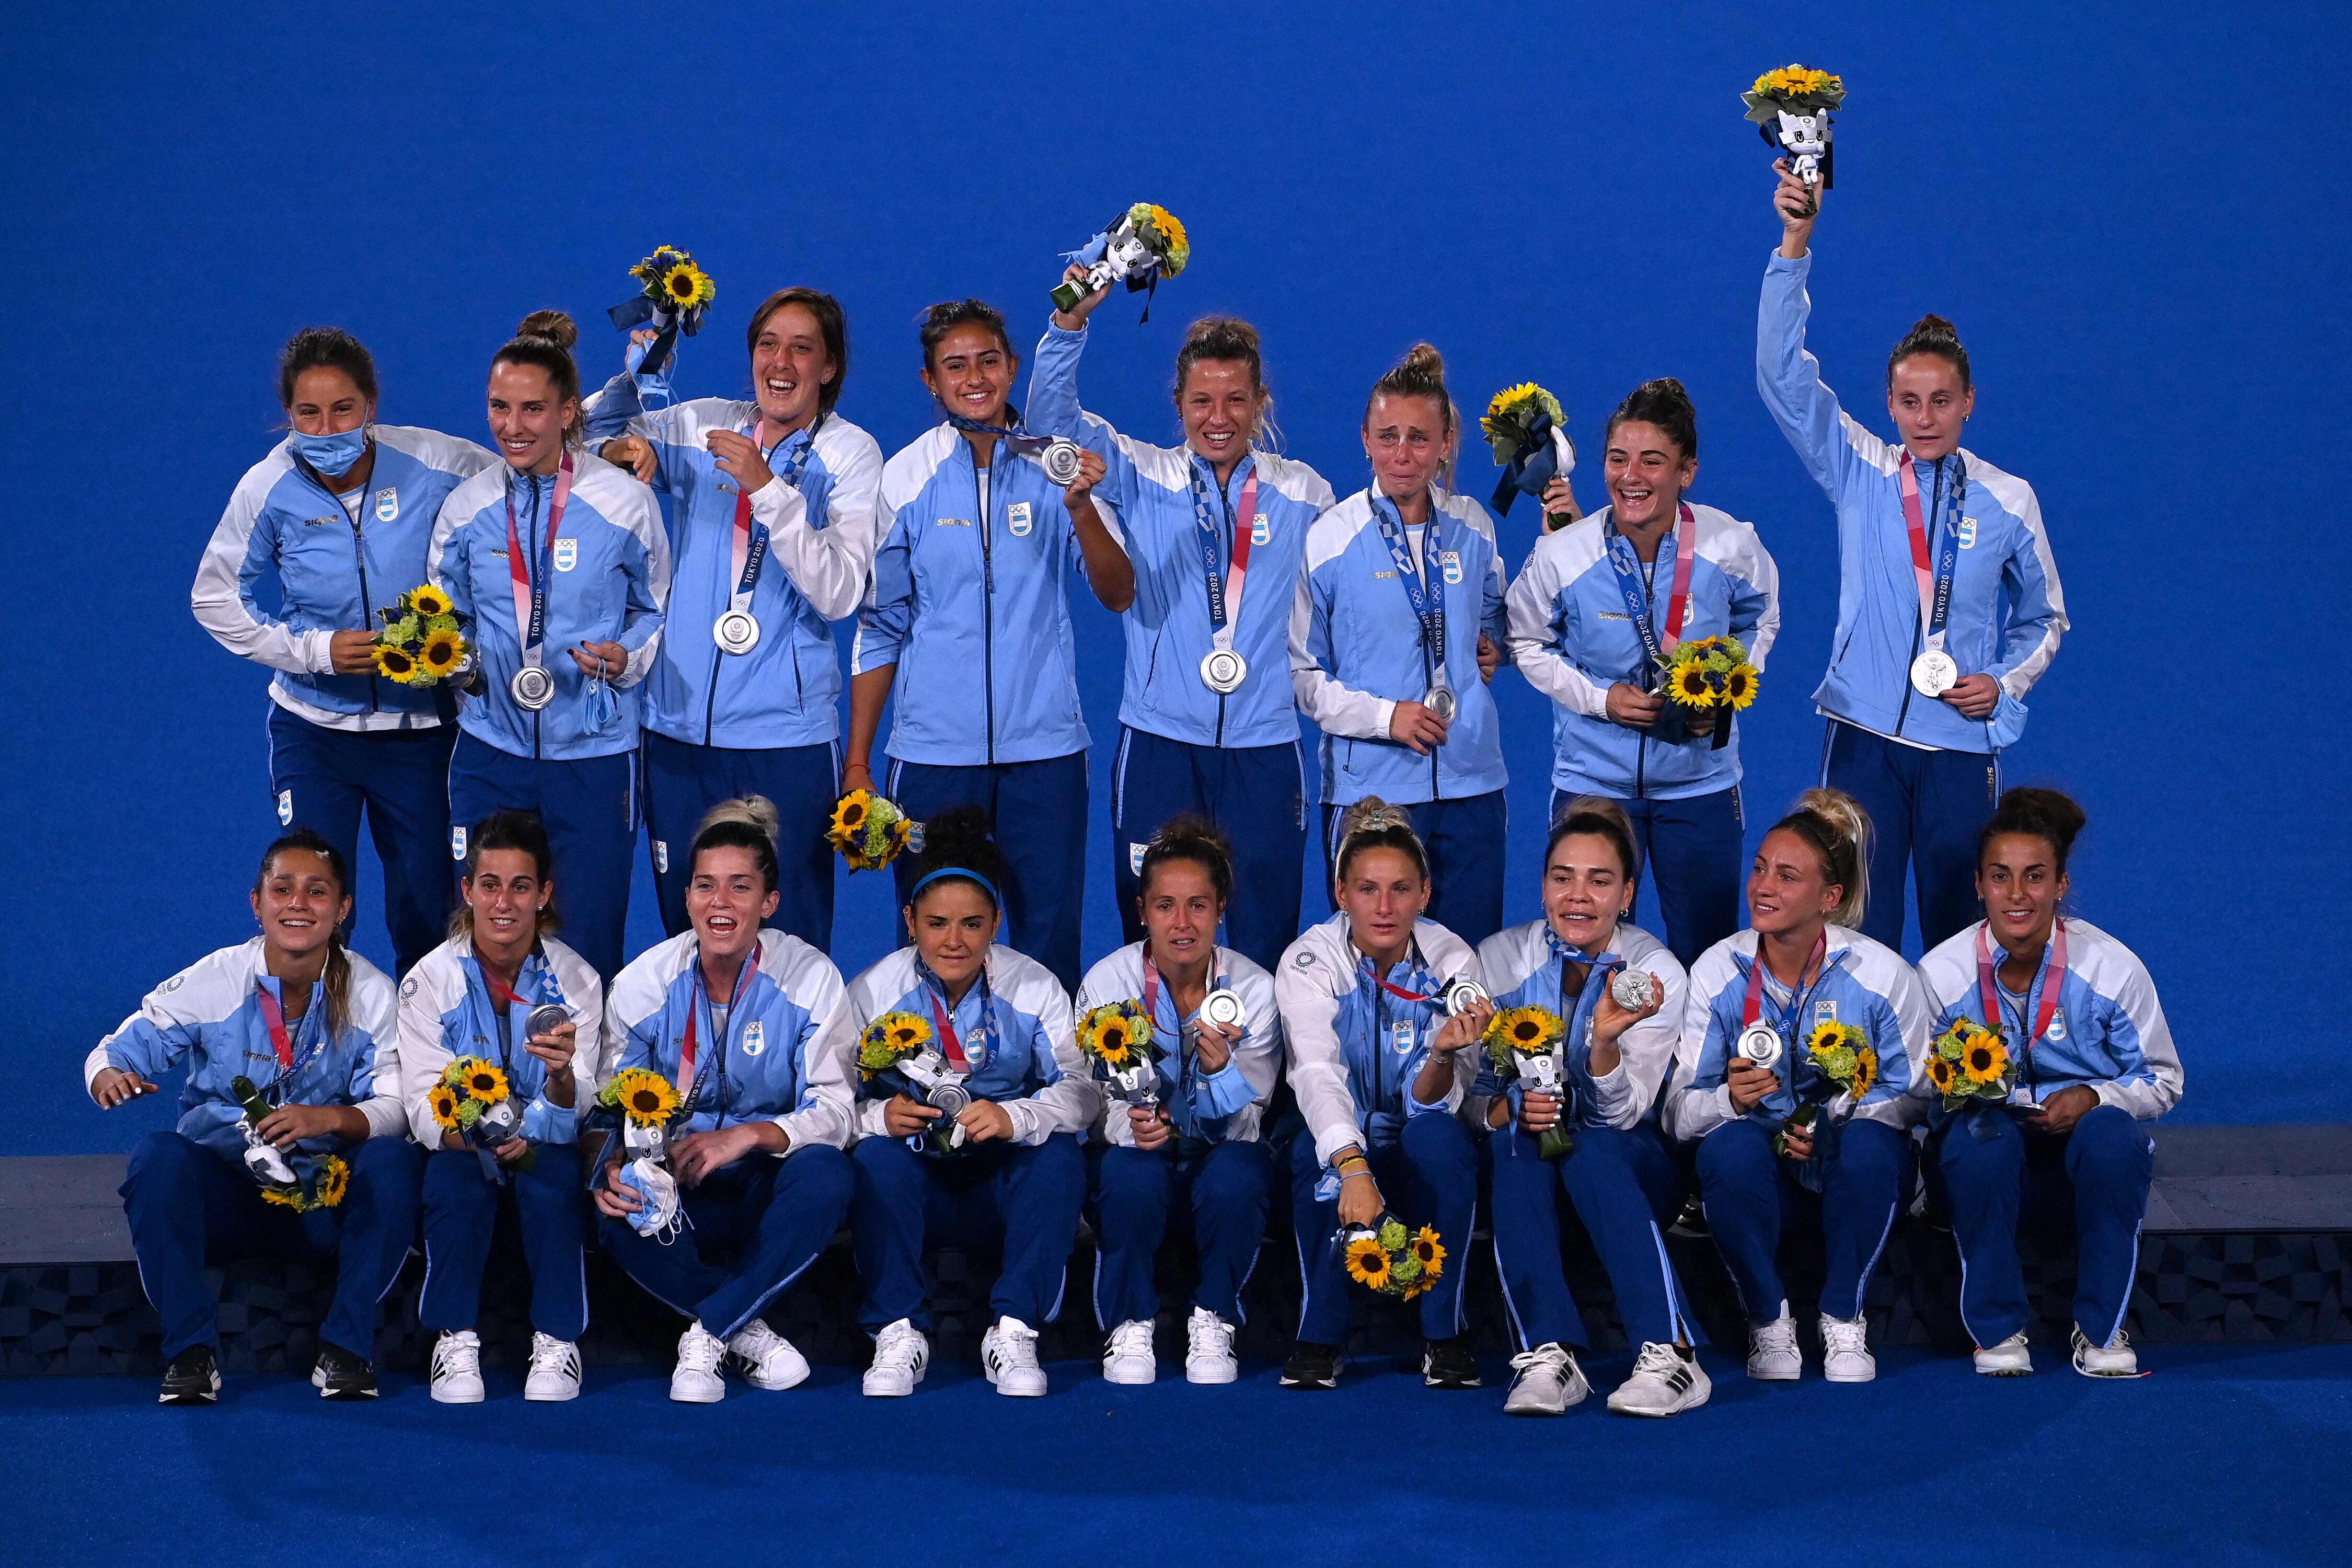
[[[1388,1363],[1336,1394],[1112,1389],[1054,1366],[1000,1399],[934,1368],[906,1401],[818,1368],[793,1394],[668,1403],[590,1373],[569,1406],[440,1408],[289,1378],[162,1410],[143,1378],[0,1382],[19,1563],[2310,1563],[2345,1561],[2352,1347],[2152,1347],[2138,1382],[1983,1380],[1889,1352],[1872,1387],[1745,1382],[1670,1422],[1505,1420]],[[1489,1380],[1501,1373],[1489,1366]],[[1595,1366],[1609,1387],[1623,1359]]]

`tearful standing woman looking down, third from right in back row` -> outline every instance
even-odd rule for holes
[[[1461,414],[1416,343],[1364,402],[1371,484],[1308,531],[1291,602],[1291,686],[1322,729],[1324,858],[1362,799],[1411,816],[1430,919],[1465,943],[1503,929],[1503,736],[1486,682],[1503,658],[1494,517],[1446,491]]]

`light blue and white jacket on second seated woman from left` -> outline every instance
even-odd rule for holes
[[[480,1056],[506,1072],[506,1086],[522,1100],[524,1138],[579,1140],[579,1114],[595,1098],[595,1067],[604,1056],[604,983],[588,959],[546,936],[522,959],[515,997],[522,1006],[508,1011],[489,994],[470,936],[452,936],[416,959],[416,969],[400,983],[400,1098],[416,1143],[445,1147],[428,1095],[459,1056]],[[572,1105],[548,1100],[548,1065],[522,1048],[529,1039],[524,1025],[541,1004],[572,1013]]]

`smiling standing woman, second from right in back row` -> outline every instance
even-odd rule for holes
[[[1625,809],[1665,940],[1691,964],[1740,924],[1740,741],[1729,712],[1670,703],[1658,661],[1729,635],[1762,670],[1780,574],[1755,527],[1682,498],[1698,411],[1679,381],[1618,404],[1604,473],[1609,505],[1538,538],[1510,585],[1510,654],[1555,705],[1552,811],[1576,795]]]

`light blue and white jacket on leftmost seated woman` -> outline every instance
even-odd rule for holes
[[[162,1086],[181,1060],[188,1079],[179,1091],[179,1131],[214,1154],[238,1159],[245,1112],[230,1093],[233,1079],[252,1079],[273,1105],[353,1105],[367,1117],[369,1138],[407,1138],[400,1103],[400,1025],[390,978],[343,950],[350,959],[350,1023],[327,1032],[327,983],[310,985],[310,1006],[287,1020],[294,1070],[280,1074],[270,1027],[261,1018],[261,987],[282,994],[261,957],[261,938],[221,947],[179,971],[146,994],[139,1011],[101,1039],[82,1063],[87,1088],[103,1067],[136,1072]],[[332,1154],[339,1138],[306,1138],[306,1154]]]

